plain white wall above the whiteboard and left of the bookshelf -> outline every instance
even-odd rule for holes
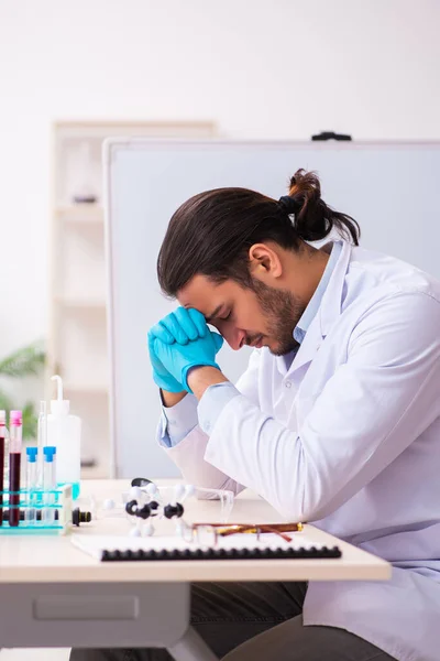
[[[439,24],[437,0],[0,0],[0,356],[46,332],[54,119],[440,139]]]

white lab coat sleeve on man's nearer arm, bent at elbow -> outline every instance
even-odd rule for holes
[[[297,433],[244,395],[211,431],[205,458],[290,520],[322,519],[373,480],[440,415],[440,303],[398,293],[353,328],[346,361]]]

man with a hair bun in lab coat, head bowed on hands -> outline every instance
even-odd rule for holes
[[[193,626],[228,661],[438,661],[440,284],[359,248],[304,171],[279,201],[186,202],[157,270],[180,303],[148,333],[158,436],[185,479],[250,487],[393,563],[384,583],[195,585]],[[222,338],[255,347],[237,386]]]

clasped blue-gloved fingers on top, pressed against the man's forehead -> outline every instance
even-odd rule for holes
[[[191,339],[205,337],[209,328],[201,312],[194,307],[177,307],[155,324],[148,333],[165,344],[188,344]]]

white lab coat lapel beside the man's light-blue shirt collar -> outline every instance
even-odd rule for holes
[[[322,248],[331,250],[331,246],[332,243],[326,243],[326,246]],[[327,290],[322,296],[319,311],[311,322],[309,329],[307,330],[306,336],[299,346],[298,353],[295,356],[290,368],[287,370],[287,373],[286,364],[283,356],[277,358],[278,369],[282,373],[286,375],[287,378],[292,378],[293,380],[301,378],[301,375],[307,369],[308,365],[319,349],[322,339],[328,335],[331,326],[340,316],[342,311],[343,285],[350,263],[351,252],[351,243],[342,241],[342,250],[327,285]]]

